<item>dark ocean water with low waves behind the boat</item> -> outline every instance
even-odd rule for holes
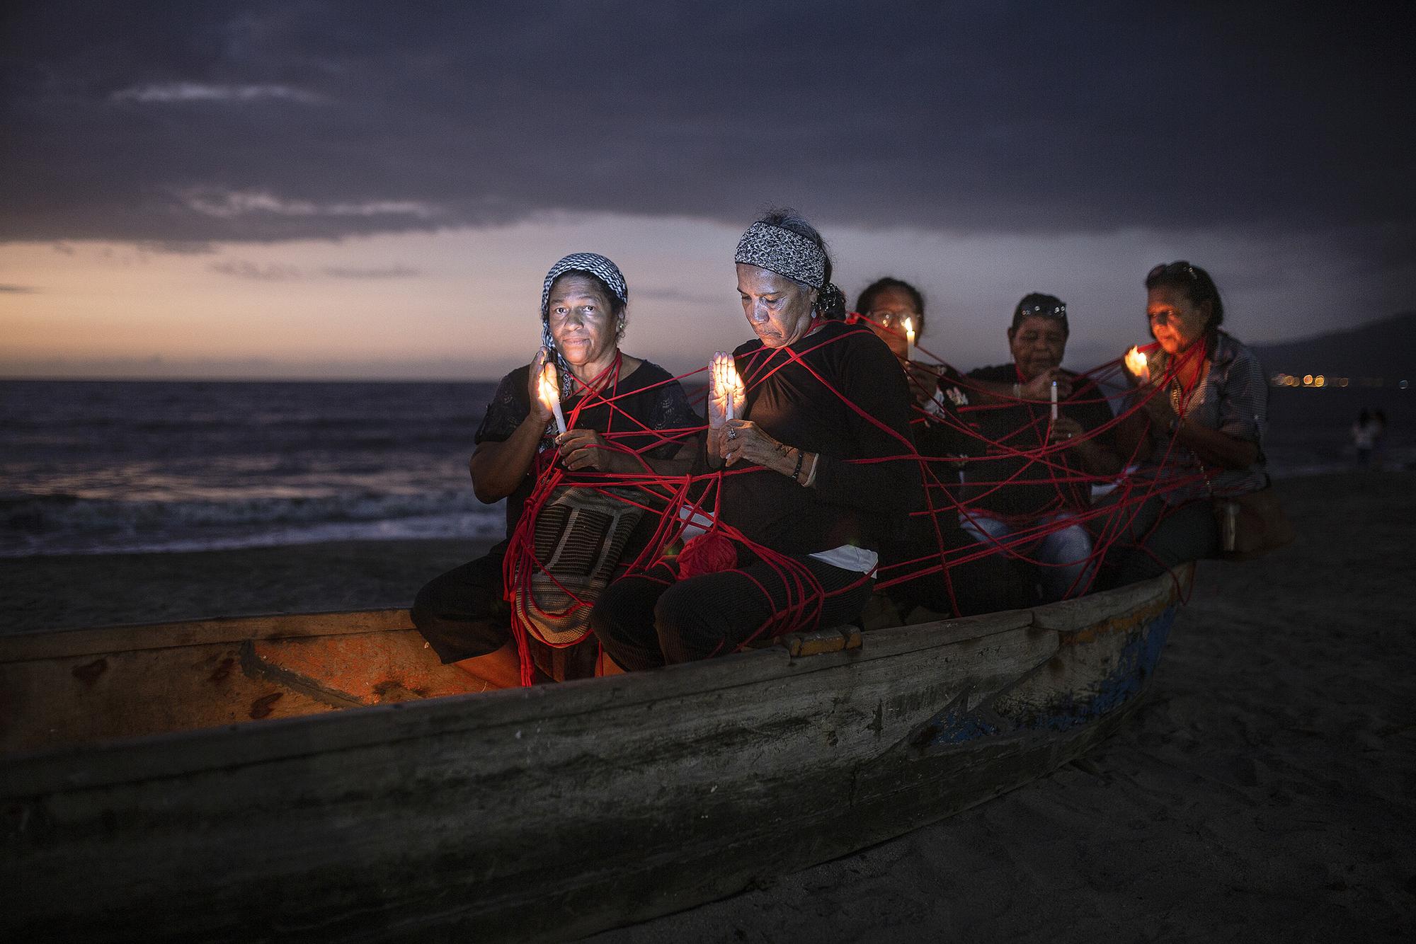
[[[467,477],[494,386],[0,381],[0,556],[500,538]],[[1274,389],[1273,473],[1351,468],[1362,406],[1416,463],[1416,392]]]

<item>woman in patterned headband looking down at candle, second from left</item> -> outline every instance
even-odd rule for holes
[[[712,524],[677,560],[606,587],[590,616],[624,669],[858,618],[877,549],[920,504],[905,375],[869,328],[843,321],[820,234],[769,214],[736,265],[756,338],[711,368],[700,471],[716,478]]]

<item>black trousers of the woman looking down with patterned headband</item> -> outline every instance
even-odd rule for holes
[[[841,626],[860,617],[874,580],[816,558],[792,559],[810,570],[826,592],[807,606],[811,611],[820,603],[820,614],[801,628]],[[674,565],[660,562],[606,587],[595,603],[590,626],[622,668],[643,671],[725,655],[753,638],[772,638],[789,626],[792,617],[783,610],[800,604],[801,596],[800,586],[792,586],[762,560],[687,580],[678,579]]]

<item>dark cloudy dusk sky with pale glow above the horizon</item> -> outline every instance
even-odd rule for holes
[[[7,374],[487,375],[544,270],[626,272],[627,348],[745,334],[732,245],[817,222],[854,296],[997,361],[1138,340],[1188,258],[1236,334],[1412,307],[1413,4],[18,3],[3,14]]]

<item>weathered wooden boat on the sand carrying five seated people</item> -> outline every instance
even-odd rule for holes
[[[0,927],[565,940],[685,909],[1075,759],[1188,577],[484,695],[402,611],[0,638]]]

